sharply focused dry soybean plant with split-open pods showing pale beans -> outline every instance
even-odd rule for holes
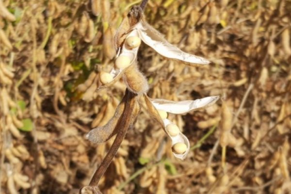
[[[150,115],[161,125],[162,129],[171,139],[174,156],[183,160],[190,150],[189,140],[175,123],[167,119],[167,113],[188,113],[208,107],[219,99],[218,96],[213,96],[176,102],[165,99],[152,99],[147,96],[146,92],[149,89],[147,79],[139,70],[137,62],[137,53],[141,42],[146,43],[162,56],[179,60],[186,65],[208,65],[210,61],[183,52],[167,42],[160,32],[146,22],[143,13],[145,5],[146,0],[143,0],[140,6],[133,6],[128,16],[123,19],[114,38],[117,53],[114,66],[110,73],[100,73],[99,79],[103,85],[98,89],[109,87],[122,77],[127,85],[127,90],[109,122],[103,127],[92,129],[86,135],[89,141],[96,144],[106,142],[115,134],[116,137],[109,152],[93,175],[89,186],[83,187],[80,190],[81,194],[89,193],[89,191],[96,194],[101,193],[97,187],[98,182],[112,162],[127,130],[134,125],[140,113],[140,103],[142,101],[146,102]]]

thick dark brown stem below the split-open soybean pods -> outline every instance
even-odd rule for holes
[[[136,95],[131,93],[129,90],[126,90],[126,104],[124,112],[122,116],[119,118],[116,128],[118,129],[118,133],[114,139],[112,146],[110,147],[107,155],[103,159],[102,163],[95,171],[89,186],[97,186],[100,178],[105,173],[106,169],[108,168],[109,164],[112,162],[113,157],[116,155],[118,148],[120,147],[127,130],[129,129],[130,122],[132,120],[132,113],[136,103]]]

